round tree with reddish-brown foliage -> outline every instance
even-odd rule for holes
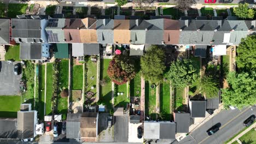
[[[109,62],[108,76],[117,85],[122,85],[135,77],[135,62],[125,55],[115,55]]]

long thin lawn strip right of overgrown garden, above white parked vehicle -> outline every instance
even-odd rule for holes
[[[39,65],[39,85],[38,85],[38,113],[39,113],[39,119],[44,119],[44,76],[45,76],[45,65]]]

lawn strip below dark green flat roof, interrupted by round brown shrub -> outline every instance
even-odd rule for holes
[[[62,59],[60,62],[60,88],[68,88],[68,59]],[[67,98],[61,98],[59,94],[58,113],[67,115],[67,109]]]

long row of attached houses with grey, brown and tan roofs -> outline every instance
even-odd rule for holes
[[[20,43],[21,59],[40,59],[49,57],[51,44],[65,43],[82,48],[88,46],[84,44],[238,45],[241,38],[256,31],[256,21],[53,19],[21,15],[0,19],[0,29],[0,44]],[[41,53],[36,55],[39,50]]]

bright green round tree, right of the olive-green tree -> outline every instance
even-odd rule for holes
[[[171,64],[168,76],[172,86],[185,87],[197,80],[199,69],[191,59],[178,60]]]

